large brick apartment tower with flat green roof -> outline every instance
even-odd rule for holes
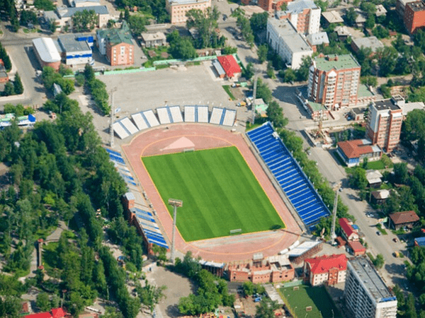
[[[312,61],[308,98],[329,108],[356,105],[361,66],[351,54],[319,55]]]

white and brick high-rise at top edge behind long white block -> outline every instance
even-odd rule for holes
[[[288,19],[298,33],[319,33],[321,9],[312,0],[290,2],[285,11],[278,11],[280,20]]]

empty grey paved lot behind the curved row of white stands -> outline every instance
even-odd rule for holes
[[[135,112],[152,110],[164,105],[210,105],[210,108],[228,107],[237,109],[237,118],[243,118],[246,110],[235,107],[235,102],[222,88],[223,81],[215,81],[207,65],[179,66],[137,73],[101,75],[98,79],[106,84],[108,92],[113,88],[115,109],[120,108],[116,119],[128,117]],[[108,142],[109,118],[103,117],[89,107],[90,101],[82,95],[82,90],[72,94],[80,102],[83,112],[94,115],[94,125],[101,139]],[[183,110],[183,108],[182,108]],[[118,141],[118,138],[115,139]],[[128,142],[128,141],[126,141]]]

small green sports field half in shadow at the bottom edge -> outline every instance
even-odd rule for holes
[[[300,289],[294,290],[293,287],[280,288],[280,295],[283,295],[283,301],[288,302],[289,307],[298,318],[316,318],[316,317],[334,317],[342,318],[338,308],[324,289],[324,286],[311,287],[300,285]],[[306,307],[312,307],[310,312]],[[332,312],[333,311],[333,312]]]

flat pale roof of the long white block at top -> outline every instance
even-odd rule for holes
[[[297,30],[295,30],[289,20],[269,18],[267,23],[273,25],[273,28],[279,34],[279,37],[281,37],[283,41],[288,44],[292,52],[312,52],[310,45],[308,45],[302,36],[297,33]]]

